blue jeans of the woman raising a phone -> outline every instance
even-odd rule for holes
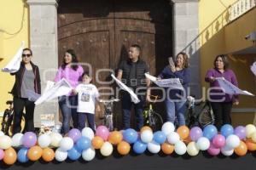
[[[186,111],[186,100],[180,99],[174,101],[172,99],[166,99],[166,111],[167,111],[167,122],[174,123],[177,118],[177,126],[183,126],[185,122],[185,111]]]

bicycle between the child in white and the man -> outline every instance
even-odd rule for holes
[[[100,99],[99,102],[104,105],[103,125],[108,127],[109,131],[113,131],[113,102],[118,102],[119,99]]]

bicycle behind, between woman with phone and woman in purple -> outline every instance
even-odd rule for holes
[[[214,124],[215,117],[209,101],[195,104],[195,96],[188,96],[188,110],[186,124],[188,127],[199,126],[201,128]]]

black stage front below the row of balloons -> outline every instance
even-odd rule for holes
[[[128,156],[119,156],[116,152],[112,156],[102,157],[97,152],[93,161],[86,162],[79,159],[78,161],[35,161],[21,164],[16,162],[15,165],[6,166],[3,161],[0,163],[1,169],[9,170],[255,170],[256,153],[247,153],[246,156],[238,157],[236,154],[230,157],[226,156],[209,156],[207,152],[201,152],[198,156],[189,155],[164,156],[162,154],[152,155],[145,153],[136,155],[131,153]]]

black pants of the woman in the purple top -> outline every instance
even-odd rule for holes
[[[215,116],[215,126],[220,130],[224,124],[231,124],[230,112],[232,102],[211,102],[212,111]]]

